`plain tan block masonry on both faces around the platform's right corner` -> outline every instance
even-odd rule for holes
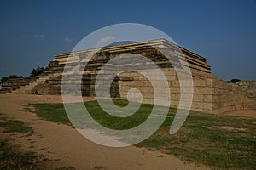
[[[174,69],[163,69],[171,89],[171,106],[177,107],[180,102],[180,83]],[[194,72],[195,75],[195,72]],[[157,75],[155,75],[157,77]],[[125,72],[119,75],[121,98],[126,98],[128,91],[137,88],[143,94],[143,103],[154,104],[154,93],[166,95],[164,91],[154,92],[150,82],[136,72]],[[193,76],[193,101],[191,110],[206,113],[223,113],[244,109],[256,109],[256,82],[228,83],[212,75]],[[186,88],[183,89],[186,93]],[[134,94],[135,96],[138,94]]]

